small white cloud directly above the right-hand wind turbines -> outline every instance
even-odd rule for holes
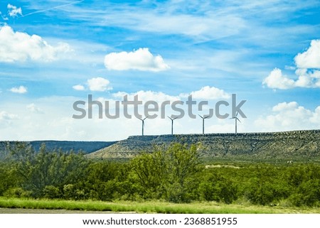
[[[229,99],[230,94],[223,91],[223,89],[218,89],[216,87],[205,86],[198,91],[193,91],[190,94],[180,94],[180,97],[188,97],[192,95],[194,99]]]

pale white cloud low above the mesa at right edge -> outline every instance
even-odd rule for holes
[[[273,114],[259,117],[255,126],[261,131],[289,131],[318,129],[320,127],[320,106],[314,111],[299,106],[297,102],[282,102],[272,108]]]

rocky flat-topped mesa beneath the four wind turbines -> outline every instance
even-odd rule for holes
[[[205,158],[304,159],[320,158],[320,130],[244,134],[185,134],[129,136],[87,155],[89,158],[133,158],[154,145],[202,143]]]

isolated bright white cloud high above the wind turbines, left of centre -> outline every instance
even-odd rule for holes
[[[160,56],[154,56],[149,48],[139,48],[132,52],[110,53],[105,55],[105,67],[108,70],[142,70],[159,72],[170,67]]]

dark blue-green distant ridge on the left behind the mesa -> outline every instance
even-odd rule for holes
[[[0,150],[4,149],[7,141],[0,141]],[[46,143],[48,150],[61,149],[62,151],[73,150],[75,152],[92,153],[107,146],[111,146],[115,141],[27,141],[38,151],[42,143]]]

